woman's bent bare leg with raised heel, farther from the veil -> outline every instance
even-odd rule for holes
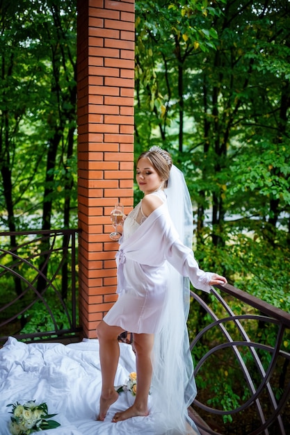
[[[118,399],[118,393],[114,388],[114,381],[120,356],[118,336],[122,332],[124,332],[122,328],[109,326],[104,321],[100,322],[97,327],[99,360],[102,372],[102,391],[99,399],[99,416],[97,420],[103,421],[108,408]]]

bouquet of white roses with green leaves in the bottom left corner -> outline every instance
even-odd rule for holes
[[[16,402],[7,406],[12,407],[12,411],[10,411],[13,414],[10,422],[10,433],[12,435],[29,435],[33,432],[61,426],[54,420],[46,420],[56,416],[56,414],[48,413],[46,403],[36,405],[35,400],[29,400],[23,405]]]

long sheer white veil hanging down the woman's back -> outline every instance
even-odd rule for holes
[[[168,210],[179,238],[192,249],[193,215],[184,175],[172,166],[165,190]],[[189,311],[189,281],[168,264],[168,297],[161,326],[154,338],[152,407],[156,434],[186,434],[188,406],[196,395],[193,360],[189,350],[186,320]]]

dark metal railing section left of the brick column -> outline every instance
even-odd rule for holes
[[[8,336],[29,341],[79,333],[76,234],[0,233],[0,345]]]

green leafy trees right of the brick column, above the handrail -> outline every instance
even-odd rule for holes
[[[184,171],[202,268],[285,311],[288,12],[287,1],[136,3],[136,154],[160,145]]]

